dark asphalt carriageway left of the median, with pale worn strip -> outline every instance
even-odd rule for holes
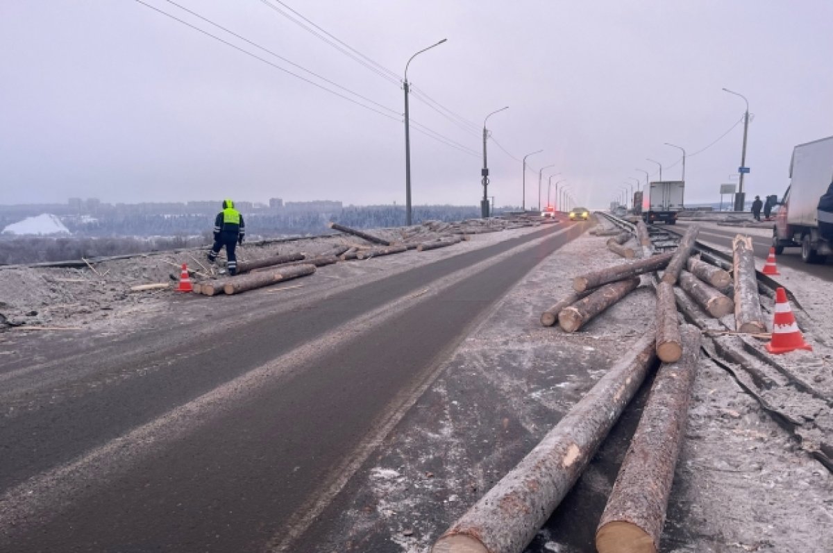
[[[274,548],[479,317],[584,227],[283,310],[231,296],[214,304],[219,330],[192,307],[190,325],[64,341],[2,369],[0,551]],[[245,306],[257,316],[236,318]]]

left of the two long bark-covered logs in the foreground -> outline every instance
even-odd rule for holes
[[[454,523],[432,553],[523,551],[570,491],[654,361],[643,336],[512,471]]]

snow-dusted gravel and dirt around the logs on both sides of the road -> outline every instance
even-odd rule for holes
[[[571,223],[561,223],[570,225]],[[537,229],[534,229],[537,230]],[[338,263],[314,277],[337,283],[387,277],[506,240],[532,228],[481,234],[424,254]],[[765,232],[744,229],[743,232]],[[397,237],[397,229],[375,232]],[[245,245],[242,257],[327,253],[357,238],[317,237]],[[304,537],[305,551],[426,552],[431,543],[506,474],[604,374],[637,337],[651,332],[654,292],[646,279],[636,291],[568,334],[542,327],[541,311],[571,289],[581,272],[621,262],[605,237],[587,233],[541,263],[503,297],[449,356],[342,493]],[[198,260],[198,262],[197,262]],[[171,290],[130,291],[166,282],[187,262],[210,267],[204,252],[159,253],[89,268],[0,268],[0,364],[17,355],[17,342],[79,332],[130,331],[154,317],[176,316]],[[200,267],[202,263],[205,267]],[[760,268],[760,267],[759,267]],[[779,361],[812,367],[811,381],[827,405],[833,399],[833,322],[825,314],[829,283],[782,270],[784,284],[805,307],[813,352]],[[302,281],[298,281],[301,283]],[[312,286],[310,287],[312,289]],[[286,292],[304,293],[304,289]],[[227,301],[232,301],[232,297]],[[202,301],[216,301],[205,297]],[[771,305],[767,306],[771,311]],[[29,329],[29,331],[27,331]],[[647,386],[647,384],[646,384]],[[638,421],[622,418],[574,490],[541,529],[528,553],[594,551],[592,537]],[[688,428],[671,491],[661,551],[833,551],[833,477],[801,448],[730,373],[701,356]]]

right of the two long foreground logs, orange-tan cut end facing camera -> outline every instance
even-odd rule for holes
[[[599,553],[656,553],[700,356],[700,331],[682,329],[683,356],[657,372],[639,426],[596,530]]]

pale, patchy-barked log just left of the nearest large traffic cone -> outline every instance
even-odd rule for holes
[[[740,234],[732,241],[733,273],[735,276],[735,330],[753,334],[766,332],[758,296],[755,253],[751,237]]]

